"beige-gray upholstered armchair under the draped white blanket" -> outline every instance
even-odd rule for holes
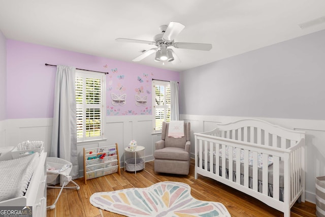
[[[187,175],[190,164],[190,123],[184,122],[184,136],[168,135],[169,123],[163,122],[161,140],[155,142],[154,171]]]

